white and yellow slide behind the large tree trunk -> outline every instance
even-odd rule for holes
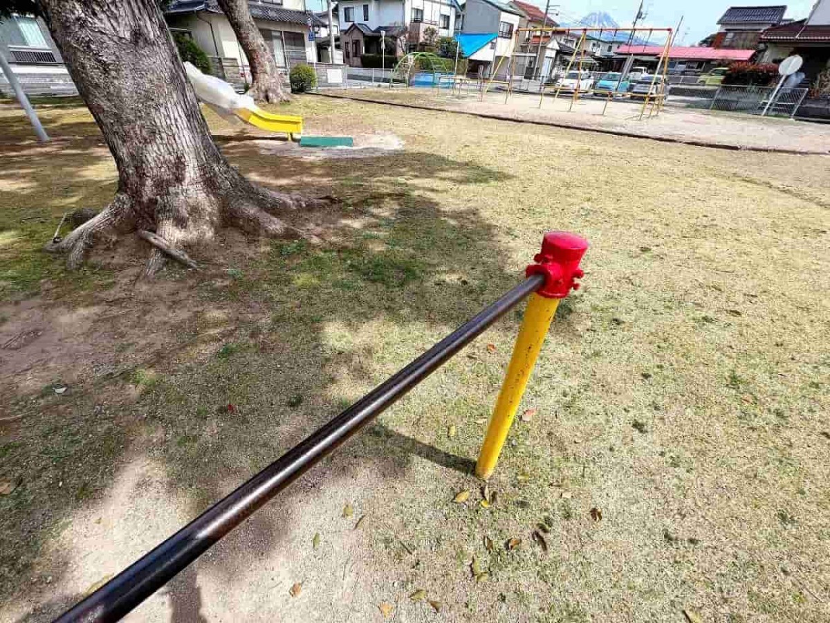
[[[241,119],[269,132],[285,132],[291,140],[298,140],[303,132],[303,118],[296,115],[273,115],[257,106],[253,98],[234,91],[226,81],[207,76],[191,63],[184,63],[188,80],[200,101],[209,105],[225,119]]]

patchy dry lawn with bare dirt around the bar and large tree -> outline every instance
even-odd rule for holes
[[[252,179],[339,199],[286,215],[325,243],[228,230],[148,286],[142,241],[75,273],[40,250],[114,192],[90,115],[41,106],[41,146],[0,105],[0,621],[51,621],[518,282],[552,228],[591,242],[586,276],[491,508],[471,464],[520,312],[127,620],[830,619],[828,157],[285,110],[374,151],[206,114]]]

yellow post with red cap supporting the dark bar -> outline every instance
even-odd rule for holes
[[[516,410],[519,409],[522,395],[525,394],[527,381],[559,301],[567,297],[572,289],[579,288],[579,283],[574,280],[583,277],[579,262],[586,250],[588,241],[573,233],[549,232],[544,235],[541,252],[533,258],[535,263],[527,267],[528,277],[542,274],[545,281],[538,292],[530,295],[505,382],[501,385],[496,408],[487,426],[487,434],[476,463],[476,476],[479,478],[490,478],[496,469],[501,448],[507,439],[510,425],[513,424]]]

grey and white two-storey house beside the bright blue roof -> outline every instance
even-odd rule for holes
[[[515,7],[498,0],[467,0],[461,35],[496,35],[474,56],[467,71],[481,71],[482,76],[506,78],[515,47],[515,29],[522,17]],[[467,56],[465,54],[465,56]]]

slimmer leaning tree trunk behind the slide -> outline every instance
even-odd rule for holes
[[[266,46],[262,33],[251,17],[247,0],[217,0],[227,21],[231,22],[237,41],[251,65],[251,88],[248,95],[256,101],[272,103],[289,101],[291,98],[282,86],[282,76],[276,66],[274,55]]]

